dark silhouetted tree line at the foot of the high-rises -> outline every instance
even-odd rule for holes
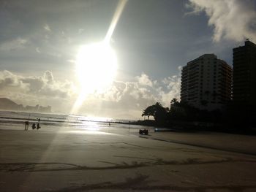
[[[146,107],[142,116],[145,122],[151,121],[150,124],[155,126],[177,124],[195,126],[198,123],[205,126],[208,123],[215,129],[246,130],[246,128],[255,127],[255,112],[248,111],[247,108],[244,104],[238,105],[230,102],[222,110],[200,110],[174,98],[170,101],[170,108],[163,107],[160,102],[157,102]],[[153,117],[154,121],[149,120],[150,117]]]

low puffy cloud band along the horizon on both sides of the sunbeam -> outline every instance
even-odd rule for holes
[[[86,96],[78,112],[113,118],[138,118],[143,109],[157,101],[168,107],[171,99],[179,98],[179,90],[180,74],[157,81],[142,73],[132,82],[115,81],[108,91]],[[45,71],[42,76],[28,77],[0,71],[0,95],[21,104],[51,105],[55,112],[69,113],[79,91],[73,82],[56,80],[50,71]]]

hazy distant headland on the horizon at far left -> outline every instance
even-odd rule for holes
[[[0,110],[14,110],[14,111],[26,111],[26,112],[51,112],[51,107],[42,107],[39,104],[36,106],[23,106],[23,104],[16,104],[14,101],[7,98],[0,98]]]

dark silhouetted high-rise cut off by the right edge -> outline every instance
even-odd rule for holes
[[[233,49],[233,101],[256,106],[256,45],[249,40]]]

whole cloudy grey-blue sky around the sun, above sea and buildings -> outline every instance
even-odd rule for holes
[[[83,96],[76,114],[142,119],[149,105],[159,101],[168,107],[171,99],[179,99],[181,69],[188,61],[214,53],[232,66],[233,47],[247,38],[256,42],[253,0],[121,2],[126,4],[109,41],[116,53],[116,76],[104,91]],[[118,4],[1,0],[0,97],[74,113],[83,92],[78,53],[105,39]],[[87,81],[94,85],[94,79]]]

